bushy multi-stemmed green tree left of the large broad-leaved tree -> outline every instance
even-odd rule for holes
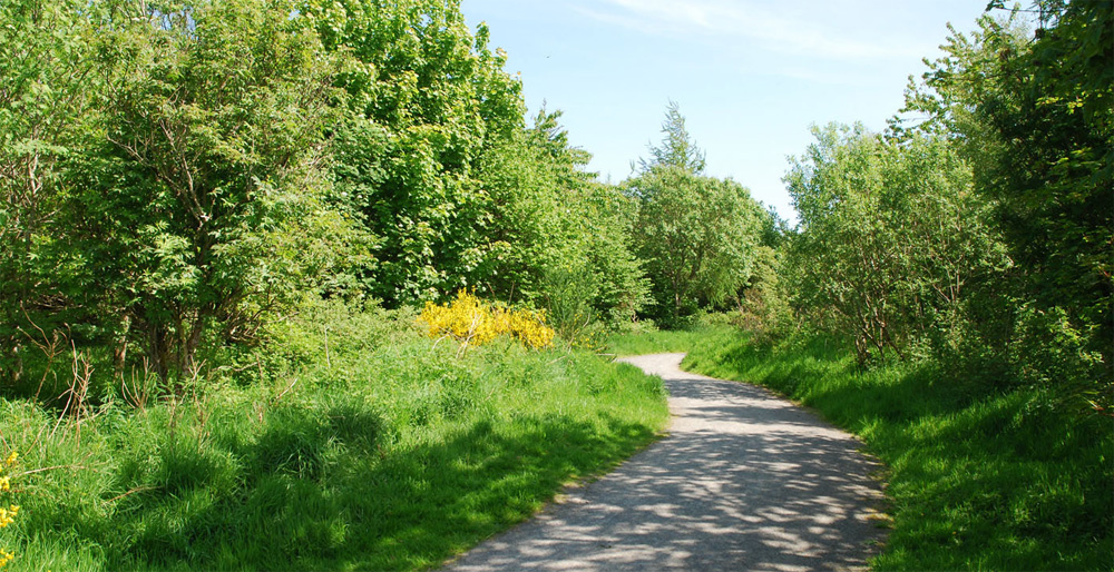
[[[189,375],[203,343],[290,309],[312,266],[300,243],[342,224],[320,200],[333,69],[283,0],[104,8],[106,88],[58,257],[159,376]]]

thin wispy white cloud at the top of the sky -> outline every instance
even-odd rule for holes
[[[681,38],[715,37],[719,41],[751,41],[758,47],[786,55],[830,59],[890,59],[926,53],[927,48],[909,38],[862,39],[848,22],[823,21],[831,2],[779,2],[776,11],[744,0],[595,0],[579,11],[598,21],[643,33]],[[818,10],[814,8],[829,8]],[[847,16],[847,14],[842,14]],[[861,30],[861,27],[858,28]]]

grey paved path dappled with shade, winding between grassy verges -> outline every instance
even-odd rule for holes
[[[885,539],[868,522],[878,466],[859,442],[752,385],[625,359],[661,375],[670,435],[446,570],[853,570]]]

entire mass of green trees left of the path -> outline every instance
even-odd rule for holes
[[[66,391],[70,345],[96,398],[180,388],[319,296],[471,286],[569,338],[648,299],[633,205],[456,2],[2,10],[6,387]]]

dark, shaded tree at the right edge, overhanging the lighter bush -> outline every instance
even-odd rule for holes
[[[906,111],[975,167],[975,189],[1016,262],[1015,295],[1066,313],[1112,365],[1114,338],[1114,4],[1036,2],[952,33],[947,57],[910,87]],[[1000,8],[1000,2],[990,7]]]

